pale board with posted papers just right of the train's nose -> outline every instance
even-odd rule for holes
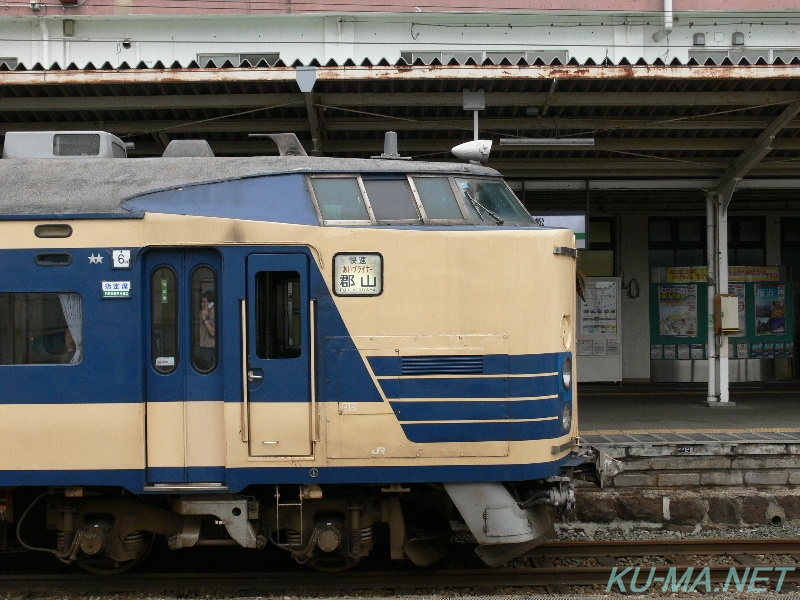
[[[622,319],[619,277],[588,277],[578,298],[579,382],[622,381]]]

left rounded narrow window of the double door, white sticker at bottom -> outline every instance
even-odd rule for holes
[[[170,267],[153,272],[153,367],[172,373],[178,367],[178,278]]]

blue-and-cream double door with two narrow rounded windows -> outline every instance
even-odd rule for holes
[[[225,478],[221,268],[213,249],[165,249],[145,257],[150,484],[221,484]]]

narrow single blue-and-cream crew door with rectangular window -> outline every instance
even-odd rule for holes
[[[304,254],[247,258],[246,402],[251,456],[309,456],[313,318]]]

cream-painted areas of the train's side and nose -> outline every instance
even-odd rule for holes
[[[572,349],[574,302],[568,294],[554,297],[552,290],[571,290],[574,262],[553,253],[555,247],[574,247],[567,230],[447,230],[412,228],[308,227],[287,224],[208,219],[203,217],[147,214],[143,219],[115,221],[67,221],[74,234],[59,240],[62,248],[197,247],[220,244],[308,247],[329,288],[331,268],[337,252],[378,252],[383,257],[383,293],[377,297],[334,297],[337,309],[363,356],[526,354],[564,352]],[[18,223],[0,222],[0,236],[7,247],[52,248],[53,240],[33,235],[36,223],[20,228]],[[512,260],[513,258],[513,260]],[[466,267],[466,268],[465,268]],[[498,299],[501,299],[498,302]],[[566,323],[566,325],[565,325]],[[556,373],[547,376],[555,377]],[[379,382],[374,378],[376,386]],[[379,387],[379,386],[378,386]],[[380,389],[380,388],[379,388]],[[549,462],[568,454],[577,431],[546,440],[490,441],[474,443],[414,443],[408,440],[389,402],[317,404],[314,415],[304,405],[251,405],[243,399],[208,398],[205,402],[149,403],[147,443],[141,406],[108,405],[107,423],[114,423],[108,437],[81,435],[70,444],[65,458],[59,444],[36,444],[26,453],[31,463],[52,468],[69,462],[69,468],[183,467],[224,464],[227,468],[270,466],[348,466],[380,462],[414,464],[508,464]],[[477,401],[477,400],[476,400]],[[102,405],[101,405],[102,406]],[[223,409],[224,407],[224,409]],[[21,417],[20,407],[0,410],[15,413],[27,423],[18,431],[31,431],[47,439],[45,422]],[[60,406],[60,423],[85,420],[87,408]],[[135,410],[133,410],[135,408]],[[41,410],[25,407],[25,411]],[[259,439],[243,440],[242,411],[251,422],[264,423],[256,431]],[[124,418],[111,413],[124,412]],[[274,415],[281,415],[274,421]],[[298,424],[316,420],[317,439],[303,439]],[[13,419],[3,419],[6,423]],[[265,458],[263,442],[275,427],[296,428],[297,441],[290,457]],[[123,430],[125,435],[118,435]],[[138,435],[130,432],[136,431]],[[3,436],[0,444],[15,447],[19,434]],[[264,438],[264,439],[260,439]],[[115,440],[114,451],[98,440]],[[12,441],[13,440],[13,441]],[[29,444],[28,444],[29,445]],[[563,447],[556,454],[554,446]],[[19,447],[26,447],[22,444]],[[13,455],[18,455],[15,452]],[[0,456],[9,456],[0,452]],[[16,463],[27,464],[27,463]],[[32,468],[32,467],[31,467]],[[64,468],[67,468],[66,465]]]

